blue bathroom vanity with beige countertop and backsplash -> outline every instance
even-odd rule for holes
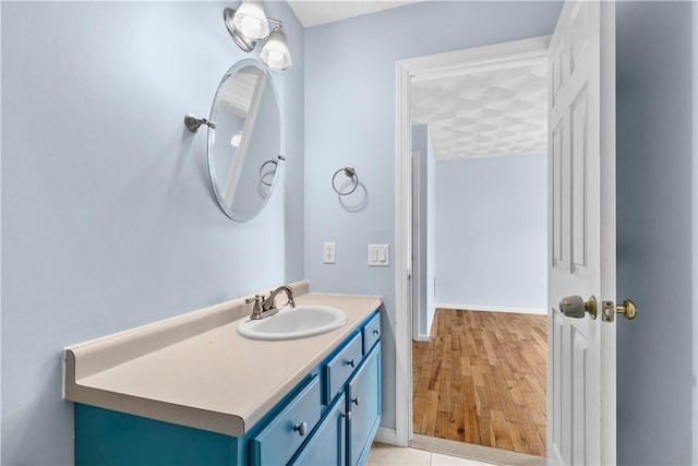
[[[248,339],[241,298],[67,348],[75,464],[362,464],[381,422],[383,301],[291,287],[347,323]]]

